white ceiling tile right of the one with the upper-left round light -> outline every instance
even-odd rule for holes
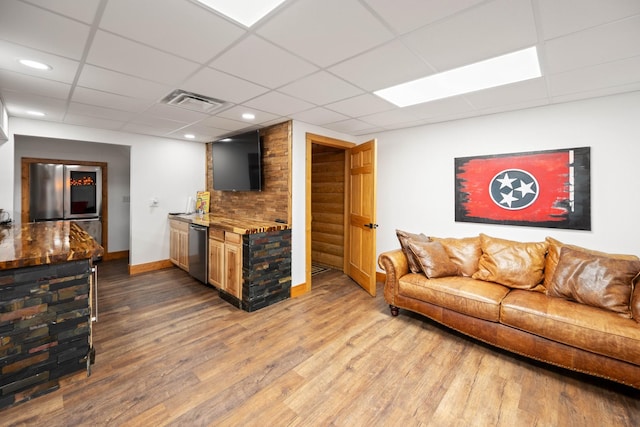
[[[160,100],[175,89],[173,86],[155,83],[92,65],[85,65],[82,68],[78,85],[149,100]]]

